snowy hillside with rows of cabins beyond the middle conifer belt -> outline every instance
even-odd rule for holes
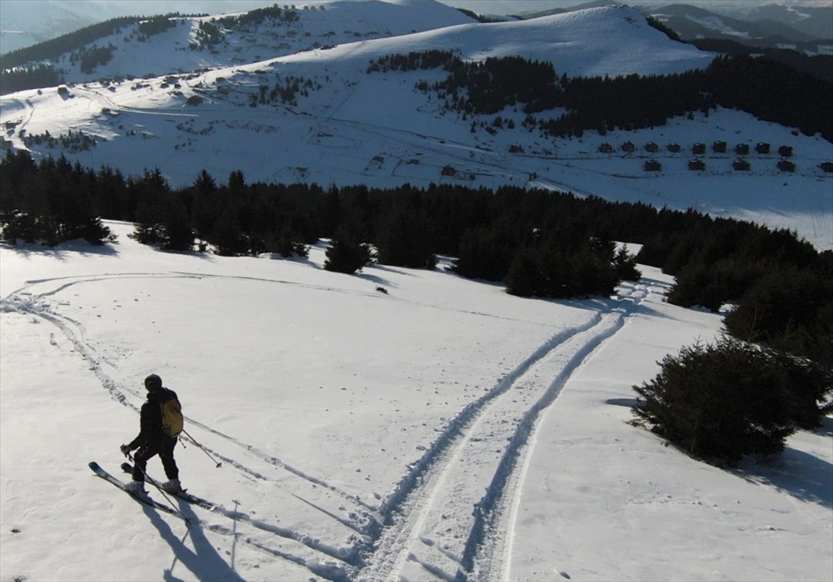
[[[348,21],[359,23],[363,17],[357,15],[364,15],[365,23],[395,33],[402,32],[398,19],[403,11],[425,12],[409,22],[426,28],[447,22],[442,16],[446,10],[456,13],[439,3],[411,0],[332,3],[325,8],[301,11],[302,22],[309,27],[317,18],[318,33],[343,34],[357,28]],[[187,25],[158,37],[182,34],[180,28]],[[303,43],[316,42],[312,34],[302,38]],[[329,43],[327,37],[318,38],[322,46]],[[192,53],[206,59],[236,58],[230,55],[247,54],[257,45],[242,42],[248,48],[239,52],[229,44],[217,55],[186,49],[174,51],[171,58],[193,58]],[[140,54],[148,63],[156,63],[147,68],[157,68],[171,54],[164,43],[133,44],[147,45]],[[153,53],[157,47],[162,48]],[[500,113],[504,120],[500,129],[492,127],[494,116],[462,118],[444,111],[436,93],[415,88],[420,81],[430,84],[444,78],[440,69],[367,73],[372,58],[429,49],[451,50],[474,60],[520,55],[551,61],[558,75],[671,73],[705,67],[713,58],[711,53],[671,41],[649,27],[634,8],[593,8],[530,21],[471,23],[365,38],[201,73],[133,81],[111,78],[77,83],[61,93],[56,88],[21,92],[0,99],[0,122],[5,124],[5,138],[16,148],[28,148],[36,155],[65,153],[84,165],[107,164],[124,173],[158,167],[176,186],[191,183],[203,168],[220,181],[239,169],[250,182],[377,187],[450,182],[488,188],[521,184],[671,208],[695,207],[794,228],[820,248],[833,248],[833,177],[819,167],[833,159],[833,144],[821,137],[763,123],[746,113],[718,111],[636,132],[548,138],[523,127],[526,114],[520,108]],[[118,66],[127,67],[124,63]],[[278,89],[293,83],[298,84],[297,92],[282,100]],[[201,103],[189,105],[189,98]],[[62,152],[23,139],[70,130],[94,136],[97,145]],[[621,152],[619,146],[627,140],[636,143],[636,152]],[[729,143],[731,153],[708,153],[705,171],[689,170],[691,146],[717,140]],[[660,145],[659,152],[643,149],[651,141]],[[754,152],[759,141],[771,143],[773,151],[792,146],[796,171],[779,171],[776,153],[753,153],[748,171],[732,168],[734,146],[745,143]],[[616,153],[599,153],[605,142],[613,144]],[[668,152],[668,143],[680,143],[682,152]],[[661,162],[660,172],[643,169],[648,157]],[[453,175],[442,173],[449,165]]]

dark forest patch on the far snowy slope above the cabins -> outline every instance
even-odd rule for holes
[[[493,114],[518,107],[529,115],[526,124],[555,136],[651,128],[721,106],[833,141],[831,83],[770,58],[719,57],[706,69],[670,75],[558,78],[551,63],[518,57],[466,63],[448,51],[423,51],[371,61],[367,72],[440,67],[448,72],[444,80],[417,88],[438,93],[449,110]],[[531,117],[560,107],[569,111],[559,118]]]

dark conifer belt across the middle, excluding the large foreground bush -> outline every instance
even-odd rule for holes
[[[3,238],[47,244],[101,243],[98,217],[136,223],[142,243],[210,244],[225,255],[288,257],[332,238],[351,257],[350,272],[369,259],[353,262],[367,251],[361,245],[372,244],[379,263],[412,268],[432,268],[446,254],[462,276],[539,297],[611,294],[639,276],[611,241],[642,243],[639,262],[676,277],[671,303],[735,304],[726,317],[732,334],[833,365],[833,253],[795,233],[694,210],[516,187],[247,183],[239,171],[227,183],[202,171],[172,188],[158,169],[125,177],[10,150],[0,163],[0,213]]]

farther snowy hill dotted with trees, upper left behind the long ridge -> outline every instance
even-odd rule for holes
[[[276,5],[277,6],[277,5]],[[287,6],[282,4],[281,6]],[[295,6],[292,4],[292,6]],[[304,7],[304,8],[302,8]],[[150,36],[137,24],[99,38],[99,48],[112,47],[112,57],[90,73],[81,70],[64,54],[54,64],[66,71],[67,82],[82,83],[100,78],[141,78],[169,73],[190,73],[198,68],[232,67],[268,58],[312,50],[322,46],[352,43],[365,38],[386,38],[456,24],[473,23],[454,8],[423,0],[324,0],[297,9],[280,9],[277,18],[223,24],[222,19],[241,17],[243,12],[204,18],[171,19],[172,28]],[[219,22],[218,22],[219,21]],[[199,43],[201,24],[216,23],[216,43]]]

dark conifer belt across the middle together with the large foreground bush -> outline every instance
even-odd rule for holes
[[[637,262],[661,267],[676,278],[670,303],[734,304],[724,324],[737,339],[663,360],[656,379],[635,387],[637,424],[733,464],[783,449],[796,426],[812,428],[831,409],[833,252],[786,230],[516,187],[325,189],[247,183],[240,171],[218,183],[203,170],[172,188],[158,169],[125,177],[13,150],[0,161],[4,240],[113,242],[102,217],[130,221],[132,238],[171,251],[292,257],[330,238],[324,268],[343,273],[374,260],[435,268],[445,254],[461,276],[522,297],[610,295],[641,276]],[[634,257],[613,240],[643,246]]]

